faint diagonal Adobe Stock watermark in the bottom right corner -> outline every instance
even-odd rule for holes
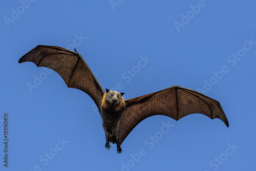
[[[225,152],[220,154],[220,156],[215,157],[214,159],[210,160],[209,166],[213,170],[218,170],[218,168],[224,164],[227,159],[229,159],[230,156],[234,154],[234,152],[237,151],[239,146],[235,145],[234,142],[232,144],[227,143],[227,148],[225,149]],[[209,169],[205,169],[204,171],[210,171]]]

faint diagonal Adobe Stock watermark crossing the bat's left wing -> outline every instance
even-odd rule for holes
[[[82,42],[85,39],[87,39],[87,37],[82,36],[82,33],[80,33],[79,35],[75,34],[74,36],[75,36],[75,38],[73,39],[73,44],[69,44],[67,46],[67,49],[69,49],[69,50],[73,50],[75,47],[78,47],[79,45],[82,44]],[[65,61],[66,56],[61,56],[61,57],[62,58],[60,58],[60,60]],[[57,65],[57,60],[55,60],[55,61],[56,61],[55,65]],[[54,63],[53,63],[53,65],[54,65]],[[41,71],[38,75],[36,75],[36,74],[33,75],[34,80],[32,83],[31,82],[26,83],[27,88],[30,93],[33,93],[33,89],[37,89],[38,86],[40,86],[42,84],[42,81],[46,80],[48,78],[48,76],[52,74],[52,71],[53,71],[49,68],[42,68],[42,70],[44,70],[44,71]]]

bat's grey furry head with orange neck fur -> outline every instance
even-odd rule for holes
[[[110,91],[106,89],[106,93],[102,98],[101,106],[105,109],[111,109],[114,111],[119,111],[124,107],[124,99],[122,97],[124,93],[119,93],[116,91]],[[113,109],[114,108],[114,109]]]

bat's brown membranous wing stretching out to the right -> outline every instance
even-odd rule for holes
[[[194,113],[211,119],[219,118],[228,127],[228,121],[218,101],[197,91],[179,86],[125,100],[126,109],[119,125],[119,144],[134,127],[147,117],[165,115],[175,120]]]

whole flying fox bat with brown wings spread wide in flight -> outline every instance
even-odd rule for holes
[[[105,148],[110,149],[110,142],[116,143],[117,153],[122,152],[120,145],[134,127],[150,116],[164,115],[179,120],[189,114],[200,113],[211,119],[219,118],[227,127],[229,125],[218,101],[176,85],[128,100],[123,99],[124,93],[108,89],[104,92],[76,50],[73,52],[61,47],[38,45],[18,62],[26,61],[56,71],[69,88],[86,92],[93,99],[105,131]]]

